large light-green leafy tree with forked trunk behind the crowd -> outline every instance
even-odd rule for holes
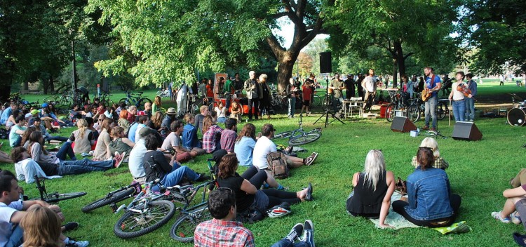
[[[282,1],[112,1],[90,0],[88,11],[102,10],[100,22],[110,22],[121,46],[138,59],[123,55],[102,60],[104,75],[129,72],[139,84],[195,79],[194,72],[224,71],[246,65],[259,70],[259,58],[278,61],[278,82],[284,86],[304,46],[325,32],[322,2]],[[272,34],[280,18],[295,25],[290,48]]]

